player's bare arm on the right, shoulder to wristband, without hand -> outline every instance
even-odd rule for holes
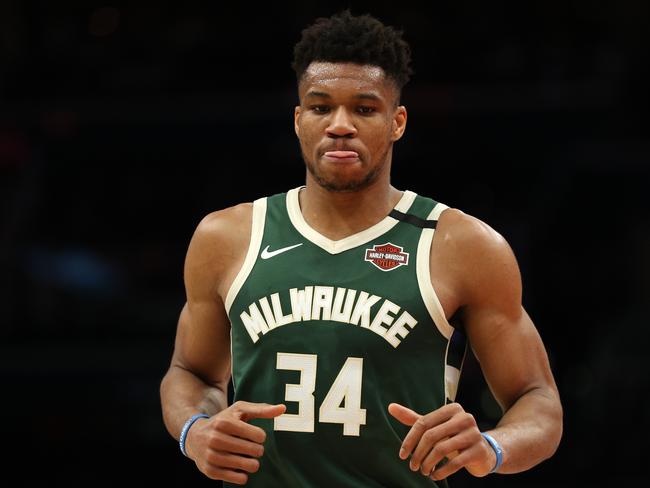
[[[519,267],[507,242],[463,217],[472,242],[464,263],[462,318],[486,381],[504,411],[489,433],[504,452],[500,473],[531,468],[556,451],[562,406],[544,344],[522,307]]]

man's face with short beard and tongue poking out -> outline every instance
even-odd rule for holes
[[[377,66],[313,62],[299,87],[295,130],[316,183],[330,191],[365,188],[390,172],[406,109]]]

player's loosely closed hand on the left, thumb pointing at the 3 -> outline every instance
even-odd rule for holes
[[[238,401],[209,419],[197,420],[187,434],[187,455],[208,478],[238,485],[260,467],[255,459],[264,454],[266,432],[248,424],[254,418],[282,415],[283,404]]]

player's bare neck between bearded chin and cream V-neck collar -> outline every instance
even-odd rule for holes
[[[370,186],[351,192],[333,192],[307,176],[300,192],[300,209],[309,226],[328,239],[340,240],[383,220],[402,192],[378,178]]]

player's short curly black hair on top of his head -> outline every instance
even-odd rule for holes
[[[400,92],[413,74],[411,49],[402,32],[369,14],[354,16],[349,9],[319,17],[302,31],[291,64],[298,82],[313,61],[379,66]]]

